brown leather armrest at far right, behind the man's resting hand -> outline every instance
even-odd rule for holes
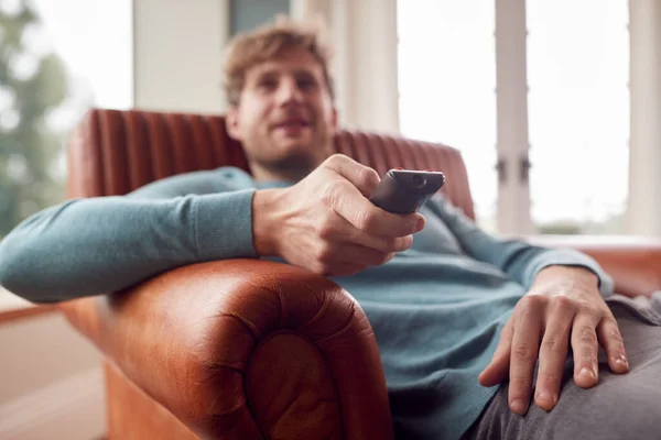
[[[548,248],[572,248],[595,258],[629,297],[661,290],[661,239],[608,235],[533,235],[527,241]]]

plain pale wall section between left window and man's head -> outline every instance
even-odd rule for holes
[[[134,0],[134,107],[218,113],[228,0]]]

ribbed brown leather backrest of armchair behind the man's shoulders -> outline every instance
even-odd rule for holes
[[[445,173],[443,191],[475,218],[466,167],[453,147],[401,136],[343,130],[334,148],[380,175],[402,166]],[[175,174],[220,166],[248,169],[240,143],[221,116],[139,110],[91,110],[74,131],[68,151],[69,197],[127,194]]]

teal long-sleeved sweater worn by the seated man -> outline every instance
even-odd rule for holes
[[[46,209],[0,242],[0,284],[35,302],[119,290],[177,266],[257,257],[251,199],[258,184],[237,168],[163,179],[126,197],[77,199]],[[389,263],[333,278],[360,302],[375,330],[398,438],[458,439],[497,387],[477,375],[535,274],[589,257],[499,240],[443,197],[413,246]],[[272,258],[279,260],[279,258]]]

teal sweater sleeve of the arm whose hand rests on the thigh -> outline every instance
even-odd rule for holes
[[[488,234],[442,196],[435,197],[429,206],[445,222],[467,255],[499,267],[525,288],[532,286],[542,268],[562,265],[592,271],[599,278],[602,296],[613,294],[613,279],[588,255],[572,249],[546,249]]]

